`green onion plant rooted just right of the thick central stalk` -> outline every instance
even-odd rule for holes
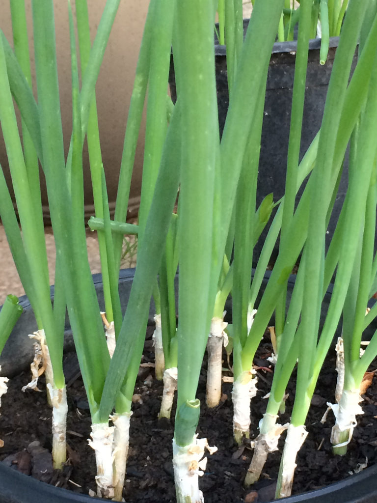
[[[289,263],[292,260],[292,254],[284,253],[284,247],[286,244],[285,238],[287,237],[287,229],[289,228],[289,224],[291,223],[291,219],[293,217],[293,209],[297,189],[299,188],[298,157],[303,113],[303,96],[305,93],[306,61],[308,54],[308,18],[310,20],[310,6],[308,9],[308,4],[306,4],[306,11],[304,10],[304,5],[302,6],[301,14],[303,16],[303,19],[300,24],[302,29],[299,31],[299,44],[296,61],[286,194],[283,198],[284,202],[280,202],[279,210],[275,216],[274,222],[271,225],[268,237],[262,249],[262,254],[259,257],[258,268],[253,278],[251,288],[249,278],[251,276],[252,250],[257,238],[259,237],[260,222],[258,222],[258,219],[255,219],[255,217],[251,217],[252,214],[250,214],[250,209],[248,208],[248,205],[253,205],[255,208],[256,193],[254,191],[254,202],[252,202],[252,197],[250,197],[250,194],[247,195],[246,191],[249,192],[249,187],[253,187],[254,189],[256,187],[256,175],[259,160],[259,142],[264,100],[260,100],[259,102],[258,121],[254,122],[254,129],[250,134],[250,141],[248,145],[249,154],[244,158],[245,175],[241,175],[238,188],[239,194],[237,194],[236,200],[236,231],[233,261],[235,280],[234,288],[232,290],[234,337],[234,385],[232,398],[234,404],[233,432],[237,443],[241,442],[244,435],[247,437],[249,436],[249,402],[250,398],[255,396],[257,391],[257,377],[255,375],[255,371],[253,370],[252,361],[255,355],[255,351],[259,345],[260,339],[263,335],[264,328],[262,332],[252,330],[254,316],[257,314],[257,321],[261,323],[259,325],[260,328],[262,326],[266,327],[271,315],[271,309],[273,310],[273,308],[277,304],[277,320],[278,306],[283,304],[285,310],[286,304],[285,292],[280,288],[280,286],[277,286],[274,291],[268,291],[268,297],[266,297],[266,299],[269,304],[269,308],[264,309],[264,307],[262,307],[259,313],[257,313],[257,311],[255,310],[255,300],[261,285],[261,279],[263,278],[264,271],[271,255],[272,247],[275,244],[280,228],[280,248],[283,250],[281,259],[286,261],[286,263],[284,263],[282,267],[286,269],[289,268]],[[307,19],[305,19],[304,17],[305,14]],[[264,97],[264,92],[261,93],[261,96]],[[261,208],[261,210],[263,211],[261,211],[259,214],[259,216],[264,214],[263,219],[265,219],[266,210],[267,216],[269,216],[269,213],[272,210],[271,207],[266,208],[265,206],[266,205],[264,205],[264,208]],[[252,211],[255,211],[255,209]],[[245,222],[249,226],[248,229],[245,229]],[[254,223],[254,227],[250,225],[250,223]],[[253,233],[255,235],[253,235]],[[288,237],[287,242],[291,242],[291,240],[292,236]],[[292,267],[293,265],[291,266],[291,270]],[[280,283],[284,285],[284,283]],[[263,318],[261,318],[261,316],[263,316]],[[276,326],[276,328],[278,328],[278,326]],[[279,332],[277,332],[277,342],[279,342],[278,336]]]

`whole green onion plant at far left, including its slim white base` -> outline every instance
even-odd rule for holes
[[[28,126],[25,120],[22,121],[21,126],[23,146],[21,145],[11,94],[12,92],[16,102],[29,100],[28,105],[31,107],[29,113],[37,114],[36,104],[30,90],[31,69],[25,6],[20,2],[11,2],[11,13],[14,52],[12,52],[4,35],[0,42],[2,60],[0,120],[7,146],[22,235],[3,172],[0,176],[2,191],[0,211],[19,276],[36,313],[38,332],[33,337],[36,337],[41,345],[47,341],[50,348],[49,352],[45,352],[47,361],[44,362],[44,366],[49,398],[53,404],[53,430],[56,432],[53,435],[54,465],[61,467],[66,459],[65,416],[67,403],[62,370],[65,298],[59,274],[59,260],[57,260],[56,299],[54,308],[52,307],[37,156],[39,155],[42,159],[41,163],[43,163],[43,153],[40,139],[38,145],[33,145],[29,134],[31,124]],[[17,90],[16,87],[18,87]],[[34,132],[40,136],[39,125]],[[36,381],[32,386],[35,384]]]

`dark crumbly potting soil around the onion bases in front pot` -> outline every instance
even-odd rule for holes
[[[262,345],[254,361],[258,367],[269,366],[266,358],[270,356],[271,346]],[[174,480],[171,464],[171,439],[173,424],[159,422],[157,414],[162,395],[162,383],[154,378],[153,348],[146,341],[142,366],[135,388],[135,403],[130,428],[130,451],[123,496],[127,502],[175,501]],[[224,366],[226,367],[226,358]],[[46,403],[43,377],[40,379],[41,393],[21,388],[29,380],[24,373],[12,379],[9,391],[2,397],[0,416],[0,438],[4,447],[0,449],[0,460],[8,463],[27,475],[59,485],[67,489],[87,494],[96,491],[95,456],[87,444],[90,433],[90,414],[82,381],[75,367],[74,354],[65,357],[68,387],[69,413],[67,418],[67,442],[69,461],[64,469],[52,470],[51,463],[51,409]],[[270,371],[257,371],[258,393],[252,402],[252,424],[250,436],[258,434],[258,422],[265,411],[267,400],[264,397],[270,388],[273,368]],[[224,372],[231,376],[231,373]],[[358,416],[358,426],[348,446],[346,456],[333,456],[330,433],[333,425],[332,412],[327,421],[321,424],[326,410],[326,402],[334,400],[335,357],[325,362],[320,375],[312,406],[307,418],[309,435],[299,452],[293,493],[297,494],[331,484],[363,465],[375,463],[377,451],[377,379],[373,379],[363,396],[364,414]],[[232,439],[232,401],[231,384],[224,383],[221,403],[214,409],[205,405],[206,370],[203,369],[198,388],[198,398],[202,403],[198,427],[199,437],[206,437],[211,446],[218,451],[208,456],[207,469],[200,479],[206,503],[238,503],[240,501],[269,501],[273,499],[280,453],[284,442],[279,442],[279,451],[269,455],[261,480],[245,490],[242,482],[249,466],[252,450],[249,442],[238,447]],[[280,423],[289,422],[294,398],[294,383],[287,392],[286,413]],[[173,408],[172,417],[175,409]],[[32,444],[30,446],[30,444]]]

